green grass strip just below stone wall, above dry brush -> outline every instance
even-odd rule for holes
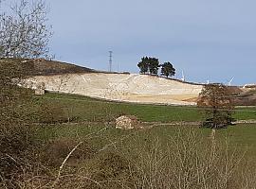
[[[177,132],[187,132],[192,129],[202,136],[209,137],[210,129],[199,129],[197,127],[173,127],[173,126],[161,126],[152,129],[135,129],[135,130],[121,130],[114,127],[106,127],[101,124],[92,123],[88,124],[64,124],[52,126],[42,126],[38,129],[37,138],[48,141],[60,138],[70,139],[99,139],[104,144],[107,141],[119,140],[128,135],[138,135],[140,140],[159,138],[161,141],[166,141],[170,137],[173,137]],[[256,155],[256,124],[243,124],[237,126],[230,126],[228,129],[218,129],[216,131],[216,139],[220,141],[229,140],[232,146],[247,146],[253,149]],[[107,139],[107,140],[106,140]]]

